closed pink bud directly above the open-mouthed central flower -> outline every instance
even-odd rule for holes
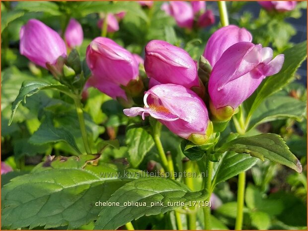
[[[152,40],[146,46],[145,70],[148,77],[161,83],[187,88],[199,86],[197,66],[182,48],[165,41]]]

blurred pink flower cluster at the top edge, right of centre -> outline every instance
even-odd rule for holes
[[[205,1],[169,1],[163,3],[161,9],[174,17],[177,25],[183,28],[192,29],[194,20],[197,27],[206,27],[215,22],[212,10],[206,10]]]

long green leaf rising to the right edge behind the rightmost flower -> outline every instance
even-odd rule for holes
[[[266,97],[282,89],[294,78],[296,71],[307,58],[307,41],[285,50],[284,55],[285,61],[281,71],[274,76],[267,77],[245,101],[244,107],[248,112],[248,119]]]

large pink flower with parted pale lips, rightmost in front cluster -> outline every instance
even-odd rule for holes
[[[226,107],[237,108],[267,77],[278,73],[284,55],[273,59],[273,50],[260,44],[239,42],[228,48],[217,61],[209,80],[209,94],[218,116]],[[227,110],[228,111],[228,110]]]

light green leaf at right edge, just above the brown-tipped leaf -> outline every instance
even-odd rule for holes
[[[306,102],[288,96],[270,96],[254,111],[247,131],[260,123],[277,119],[292,118],[301,120],[306,115],[305,111]]]

